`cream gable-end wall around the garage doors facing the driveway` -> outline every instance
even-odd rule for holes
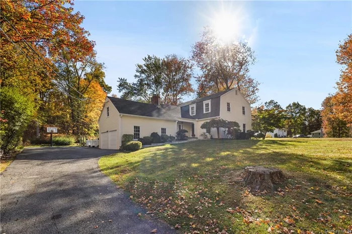
[[[107,107],[109,107],[109,117],[107,117]],[[99,147],[102,146],[102,133],[107,131],[117,130],[117,145],[120,145],[120,113],[114,106],[114,104],[110,101],[109,98],[105,99],[105,103],[103,106],[102,113],[99,118]]]

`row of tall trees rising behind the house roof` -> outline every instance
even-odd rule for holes
[[[203,97],[238,88],[250,103],[258,100],[259,82],[249,76],[249,67],[255,62],[252,49],[244,42],[218,40],[209,27],[192,46],[191,58],[148,55],[143,62],[136,65],[134,82],[118,79],[121,98],[150,102],[152,94],[157,94],[163,103],[177,105],[194,92]],[[194,74],[196,67],[200,69],[198,75]],[[196,77],[196,90],[191,85],[192,77]]]

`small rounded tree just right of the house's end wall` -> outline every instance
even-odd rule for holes
[[[264,106],[257,107],[256,114],[252,117],[252,129],[263,133],[264,140],[268,132],[283,127],[284,119],[285,110],[278,102],[270,100]]]

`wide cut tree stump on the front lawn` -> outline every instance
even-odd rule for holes
[[[285,180],[280,169],[261,166],[245,167],[241,178],[251,191],[273,191],[274,184]]]

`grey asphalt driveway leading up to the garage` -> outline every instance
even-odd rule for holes
[[[143,210],[99,171],[99,158],[114,152],[25,149],[0,177],[0,233],[174,233],[138,217]]]

